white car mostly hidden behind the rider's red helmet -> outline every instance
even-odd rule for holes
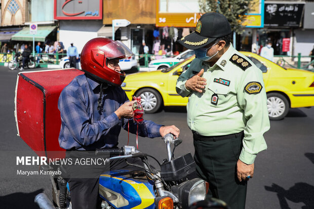
[[[68,57],[61,58],[61,61],[59,62],[59,66],[60,68],[69,68],[70,67],[69,58]],[[137,72],[139,70],[135,56],[120,60],[119,66],[121,70],[127,71],[127,72],[131,72],[131,71]],[[78,62],[76,62],[76,68],[82,70],[80,59],[78,59]]]

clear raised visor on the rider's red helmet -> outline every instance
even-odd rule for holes
[[[121,58],[133,56],[131,50],[123,44],[120,40],[112,41],[110,44],[100,48],[105,53],[107,59]]]

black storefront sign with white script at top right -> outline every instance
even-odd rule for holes
[[[264,26],[300,27],[304,3],[265,3]]]

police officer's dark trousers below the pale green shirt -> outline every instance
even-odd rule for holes
[[[209,182],[207,198],[221,199],[231,209],[245,208],[247,182],[239,182],[236,167],[243,137],[243,132],[221,140],[193,134],[197,174]]]

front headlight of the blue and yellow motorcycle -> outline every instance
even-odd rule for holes
[[[194,202],[206,199],[206,182],[202,179],[192,179],[172,188],[179,196],[183,208],[188,208]]]

